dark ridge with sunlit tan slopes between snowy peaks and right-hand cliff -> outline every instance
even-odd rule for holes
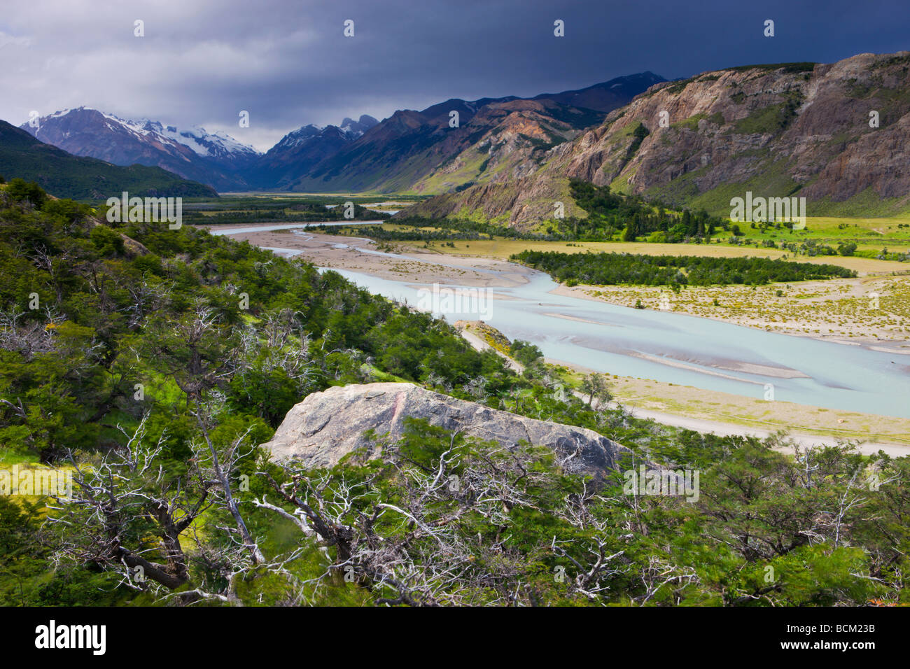
[[[663,78],[645,72],[533,98],[452,98],[399,110],[288,188],[444,193],[521,177],[540,167],[551,147],[658,81]]]

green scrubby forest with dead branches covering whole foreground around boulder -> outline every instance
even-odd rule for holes
[[[0,230],[0,468],[76,477],[70,501],[0,497],[2,603],[910,599],[907,458],[794,459],[784,437],[594,409],[554,391],[533,346],[513,342],[519,374],[337,273],[195,228],[113,228],[22,181],[0,187]],[[619,474],[420,421],[331,470],[258,450],[308,393],[371,380],[590,428],[700,471],[701,496],[624,494]],[[459,489],[434,483],[452,474]]]

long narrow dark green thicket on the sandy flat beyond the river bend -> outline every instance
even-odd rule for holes
[[[631,253],[560,253],[522,251],[511,256],[553,279],[593,285],[762,286],[784,281],[855,277],[836,265],[790,262],[771,258],[710,258],[707,256],[644,256]]]

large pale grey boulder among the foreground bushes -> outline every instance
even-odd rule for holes
[[[569,471],[598,478],[626,457],[631,461],[632,451],[595,431],[497,411],[410,383],[368,383],[315,392],[288,411],[275,437],[263,446],[277,460],[298,460],[308,468],[330,467],[355,449],[364,449],[374,458],[379,449],[364,432],[395,439],[409,416],[509,448],[520,441],[546,446],[570,456],[565,463]]]

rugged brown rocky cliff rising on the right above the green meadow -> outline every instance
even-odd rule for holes
[[[878,127],[870,126],[872,112]],[[746,190],[805,197],[810,215],[812,203],[824,213],[857,202],[896,211],[910,203],[908,130],[910,52],[706,72],[652,86],[557,147],[530,176],[433,198],[401,215],[530,227],[551,218],[554,200],[568,198],[569,177],[714,213],[729,214],[730,198]],[[567,203],[572,214],[584,215]]]

